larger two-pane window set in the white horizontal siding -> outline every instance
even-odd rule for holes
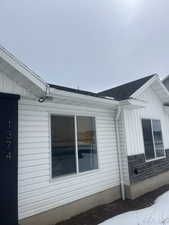
[[[51,116],[52,177],[98,168],[94,117]]]

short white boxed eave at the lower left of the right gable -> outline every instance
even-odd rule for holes
[[[127,100],[120,101],[120,105],[123,109],[134,110],[134,109],[145,108],[147,105],[147,102],[139,100],[139,99],[127,99]]]

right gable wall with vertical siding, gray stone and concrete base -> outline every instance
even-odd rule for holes
[[[163,176],[168,176],[166,173],[169,171],[169,116],[164,111],[162,102],[151,87],[146,89],[139,99],[147,102],[145,108],[124,111],[130,181],[126,190],[127,197],[131,199],[169,182],[163,179]],[[159,119],[161,121],[166,157],[146,161],[142,118]]]

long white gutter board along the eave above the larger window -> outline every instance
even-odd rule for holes
[[[99,98],[99,97],[94,97],[90,95],[83,95],[83,94],[76,94],[76,93],[70,93],[67,91],[63,90],[57,90],[55,88],[50,88],[50,96],[53,98],[58,98],[58,99],[66,99],[72,101],[83,101],[83,102],[89,102],[93,104],[98,104],[102,105],[108,108],[113,108],[114,106],[119,105],[119,102],[116,100],[110,100],[110,99],[105,99],[105,98]]]

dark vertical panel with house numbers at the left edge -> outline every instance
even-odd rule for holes
[[[18,224],[18,95],[0,93],[0,224]]]

